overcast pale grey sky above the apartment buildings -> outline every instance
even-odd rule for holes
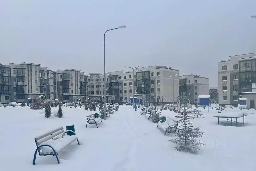
[[[0,0],[0,63],[103,73],[170,66],[209,77],[217,61],[256,51],[255,0]]]

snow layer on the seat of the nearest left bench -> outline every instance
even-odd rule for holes
[[[76,135],[71,135],[71,136],[66,135],[66,136],[64,136],[61,139],[47,140],[47,141],[43,142],[40,145],[50,145],[51,147],[53,147],[53,149],[56,152],[59,152],[60,150],[62,150],[67,145],[70,145],[75,140],[77,140],[77,136]],[[48,147],[48,146],[43,146],[42,147],[41,154],[50,154],[50,153],[53,153],[53,150],[50,147]]]

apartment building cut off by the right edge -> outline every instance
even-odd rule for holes
[[[256,53],[229,56],[218,62],[219,104],[238,105],[248,98],[250,108],[256,98]]]

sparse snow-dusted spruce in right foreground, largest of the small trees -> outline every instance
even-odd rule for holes
[[[190,113],[194,111],[187,111],[186,104],[189,102],[187,96],[180,97],[180,102],[184,104],[183,111],[174,110],[174,112],[178,113],[176,116],[179,119],[179,125],[177,128],[174,128],[176,132],[176,136],[173,140],[170,140],[172,143],[177,144],[178,146],[175,147],[177,151],[184,151],[190,153],[196,153],[201,145],[205,145],[200,141],[197,141],[197,138],[203,136],[203,132],[200,131],[200,127],[193,128],[192,123],[190,122],[193,117],[190,117]]]

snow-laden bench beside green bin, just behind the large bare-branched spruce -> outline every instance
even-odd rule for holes
[[[178,127],[178,121],[171,119],[169,117],[160,117],[160,121],[157,123],[156,128],[161,128],[166,133],[175,134],[175,128]]]

